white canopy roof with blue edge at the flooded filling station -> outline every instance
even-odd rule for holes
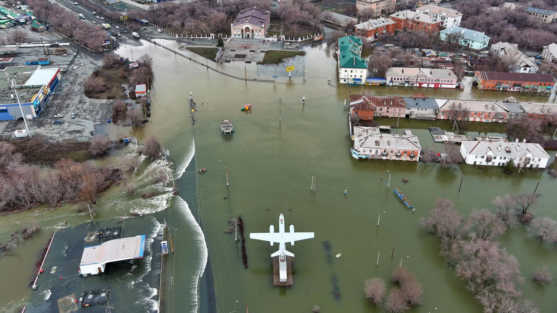
[[[143,257],[144,250],[145,235],[113,239],[96,246],[85,247],[79,265],[100,266],[109,262],[140,258]]]

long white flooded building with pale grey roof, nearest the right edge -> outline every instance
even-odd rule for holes
[[[502,166],[513,159],[519,168],[545,168],[549,154],[540,144],[465,140],[460,153],[466,164]]]

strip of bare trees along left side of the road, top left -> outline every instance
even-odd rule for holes
[[[33,14],[50,27],[91,50],[101,50],[101,42],[108,38],[104,30],[81,21],[60,6],[41,0],[27,0],[27,4],[33,9]]]

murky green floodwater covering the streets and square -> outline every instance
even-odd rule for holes
[[[172,42],[162,42],[173,47]],[[437,237],[419,226],[419,218],[426,216],[434,200],[451,199],[466,217],[472,208],[492,208],[491,201],[497,195],[534,192],[539,183],[536,192],[543,197],[534,216],[557,219],[552,209],[557,182],[545,172],[527,170],[506,175],[499,168],[480,170],[472,165],[440,169],[433,164],[351,158],[347,113],[342,105],[351,93],[364,89],[379,95],[422,93],[477,100],[515,96],[536,102],[553,102],[554,95],[494,91],[481,94],[471,86],[471,77],[466,78],[464,90],[336,86],[336,63],[321,46],[307,47],[306,56],[284,65],[305,68],[305,73],[295,72],[291,78],[295,82],[307,79],[304,84],[245,82],[147,42],[133,49],[135,56],[149,53],[155,59],[153,115],[143,128],[106,126],[103,131],[110,134],[133,131],[140,141],[149,135],[158,136],[170,150],[173,161],[170,167],[179,192],[172,196],[159,187],[162,196],[151,201],[141,199],[140,195],[126,195],[122,187],[111,188],[99,199],[97,219],[107,224],[130,212],[152,213],[145,216],[145,232],[154,228],[149,225],[157,225],[151,217],[157,223],[166,218],[170,228],[177,229],[173,233],[175,254],[169,266],[170,312],[242,312],[245,305],[236,301],[248,302],[254,312],[308,312],[315,304],[322,311],[376,312],[364,299],[364,280],[382,277],[388,281],[390,271],[403,256],[409,256],[403,264],[416,273],[424,287],[423,305],[411,312],[434,307],[439,312],[478,312],[481,307],[466,291],[465,283],[438,256]],[[129,48],[118,52],[131,56]],[[241,74],[246,76],[257,70],[256,65],[243,66],[246,67]],[[275,66],[260,68],[274,74]],[[277,81],[289,80],[284,71],[276,69],[280,73]],[[257,74],[261,79],[272,79],[263,76]],[[328,84],[329,80],[333,86]],[[198,104],[194,126],[188,112],[189,92]],[[282,97],[282,103],[277,97]],[[252,112],[241,112],[240,108],[248,103],[252,104]],[[224,119],[234,125],[232,136],[221,134],[219,125]],[[393,121],[380,120],[387,125],[396,123]],[[399,129],[411,129],[422,146],[436,146],[427,130],[429,126],[452,128],[447,121],[399,121]],[[470,134],[504,131],[502,124],[469,123],[467,128]],[[554,155],[555,151],[549,153]],[[228,187],[223,162],[229,167]],[[144,174],[149,166],[165,165],[145,162],[136,174],[143,187],[149,186]],[[207,172],[198,174],[201,168],[207,168]],[[391,174],[389,189],[385,185],[389,179],[387,170]],[[310,190],[312,175],[316,177],[315,192]],[[394,188],[407,195],[416,212],[399,202]],[[348,190],[346,194],[344,190]],[[377,227],[378,214],[383,211]],[[315,232],[315,238],[296,242],[294,247],[287,244],[287,250],[296,255],[292,262],[294,285],[288,289],[272,286],[270,255],[278,249],[277,244],[271,247],[247,236],[250,232],[267,232],[270,224],[277,227],[280,213],[286,223],[295,225],[296,231]],[[230,226],[228,219],[239,215],[246,224],[247,269],[242,265],[240,244],[234,242],[234,234],[224,233]],[[37,208],[0,217],[0,242],[11,229],[22,224],[38,221],[43,226],[14,256],[0,259],[0,274],[12,282],[0,284],[0,312],[14,312],[42,292],[33,292],[27,285],[35,272],[36,257],[56,229],[86,223],[88,219],[72,206],[54,211]],[[139,228],[141,223],[131,227]],[[131,230],[142,230],[135,228]],[[520,262],[522,276],[526,277],[524,285],[519,286],[524,297],[533,300],[541,312],[551,311],[555,306],[551,295],[557,292],[557,287],[554,284],[539,287],[529,277],[541,265],[548,265],[557,273],[553,244],[540,242],[533,230],[524,226],[497,239]],[[337,253],[342,256],[334,257]],[[136,273],[128,276],[108,283],[125,285],[141,279]],[[82,288],[87,287],[85,280],[82,284]],[[335,291],[340,296],[335,296]],[[149,295],[130,292],[127,299],[145,302],[145,311],[153,309],[146,301]],[[123,305],[116,309],[137,311]]]

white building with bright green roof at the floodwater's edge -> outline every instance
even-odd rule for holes
[[[360,38],[346,36],[339,38],[339,50],[336,51],[339,66],[340,84],[365,84],[368,63],[361,58],[363,43]]]

